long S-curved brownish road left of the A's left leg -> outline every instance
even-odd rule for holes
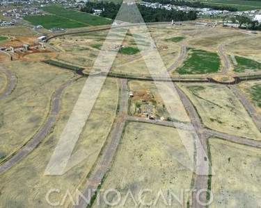
[[[42,141],[42,139],[44,139],[47,136],[47,134],[53,127],[58,112],[60,110],[61,94],[63,92],[63,89],[65,89],[65,87],[70,85],[70,83],[74,82],[74,80],[77,80],[78,78],[79,76],[75,76],[74,78],[71,78],[57,89],[57,91],[52,96],[52,108],[51,111],[49,112],[49,116],[47,117],[47,120],[45,121],[45,124],[42,126],[42,129],[36,133],[33,139],[31,139],[28,143],[26,143],[25,146],[23,146],[20,150],[18,150],[17,153],[15,153],[15,155],[13,155],[12,157],[10,157],[10,159],[8,159],[6,162],[0,165],[0,174],[7,171],[13,165],[19,162],[20,159],[26,157],[26,155],[29,155],[29,153],[31,153],[31,151],[36,146],[38,146],[38,144],[40,144],[40,141]]]

